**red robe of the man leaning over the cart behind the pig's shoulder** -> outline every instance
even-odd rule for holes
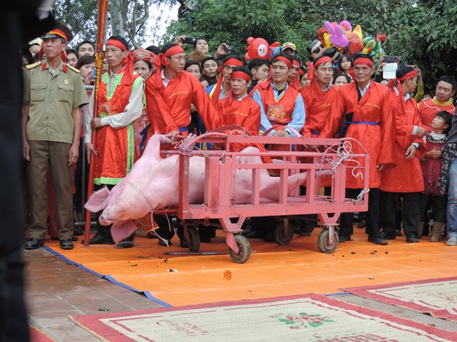
[[[197,77],[182,71],[177,78],[170,79],[166,88],[163,84],[160,88],[155,88],[154,79],[155,77],[147,79],[145,86],[147,113],[152,126],[147,132],[147,139],[154,133],[166,134],[188,126],[190,104],[197,108],[208,131],[224,126],[221,115]]]

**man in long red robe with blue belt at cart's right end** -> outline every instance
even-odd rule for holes
[[[370,155],[368,213],[366,233],[368,241],[377,245],[386,245],[387,241],[379,232],[379,186],[382,169],[394,164],[393,143],[395,142],[395,117],[392,110],[388,88],[371,81],[373,59],[369,55],[357,55],[354,60],[355,82],[339,88],[337,102],[334,104],[332,120],[325,126],[321,137],[333,137],[339,130],[344,118],[341,137],[353,137],[358,140]],[[364,153],[357,144],[352,144],[352,153]],[[348,167],[354,167],[360,158],[352,158]],[[355,177],[357,169],[348,169],[346,177],[346,197],[356,198],[357,189],[364,187],[364,180]],[[350,240],[353,234],[353,214],[342,213],[339,238]]]

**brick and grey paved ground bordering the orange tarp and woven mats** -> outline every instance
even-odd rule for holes
[[[144,310],[161,305],[142,294],[98,278],[44,249],[25,251],[26,299],[30,323],[57,342],[100,341],[68,318],[69,315],[100,314]],[[371,301],[350,294],[334,296],[341,301],[412,319],[443,330],[457,332],[457,323],[427,314]]]

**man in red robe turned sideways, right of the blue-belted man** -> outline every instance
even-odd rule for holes
[[[420,158],[427,147],[422,137],[426,131],[420,126],[418,106],[411,97],[418,84],[418,73],[411,66],[400,66],[397,77],[388,87],[395,114],[395,167],[382,173],[381,217],[382,236],[395,240],[395,195],[401,193],[402,227],[408,243],[419,242],[420,192],[424,180],[420,169]]]

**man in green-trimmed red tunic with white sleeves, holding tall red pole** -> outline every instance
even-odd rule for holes
[[[105,57],[109,69],[102,75],[98,89],[98,117],[93,117],[94,95],[89,103],[84,139],[87,158],[96,155],[94,167],[94,189],[104,186],[112,189],[119,184],[132,169],[135,158],[133,122],[143,110],[143,79],[134,73],[132,55],[127,41],[114,36],[108,39]],[[91,144],[92,131],[98,130],[96,149]],[[116,146],[116,149],[113,149]],[[97,234],[90,244],[114,245],[111,226],[98,222],[102,211],[96,213]],[[118,248],[133,247],[133,236],[118,243]]]

